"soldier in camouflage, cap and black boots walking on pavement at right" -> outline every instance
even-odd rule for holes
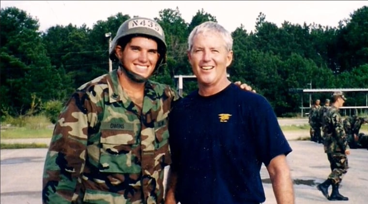
[[[338,191],[342,177],[349,168],[347,155],[350,154],[350,147],[346,140],[342,118],[338,112],[345,100],[346,98],[341,91],[335,92],[333,94],[332,106],[322,118],[324,152],[327,154],[332,172],[322,184],[317,186],[317,189],[330,201],[349,200]],[[331,195],[328,194],[330,185],[332,185]]]

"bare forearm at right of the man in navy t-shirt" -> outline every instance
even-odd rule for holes
[[[268,165],[277,204],[294,204],[294,189],[290,169],[284,155],[279,155]]]

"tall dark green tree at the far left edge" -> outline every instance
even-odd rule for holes
[[[2,108],[25,114],[32,96],[41,102],[62,97],[61,77],[46,56],[38,20],[14,7],[1,9],[0,18]]]

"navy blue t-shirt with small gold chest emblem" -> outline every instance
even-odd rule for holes
[[[262,162],[291,152],[270,103],[234,84],[180,100],[169,115],[169,135],[181,204],[262,203]]]

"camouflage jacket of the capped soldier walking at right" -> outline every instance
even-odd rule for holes
[[[324,152],[345,153],[345,150],[350,147],[346,140],[342,119],[337,107],[331,106],[331,108],[327,109],[322,117],[322,124]]]

